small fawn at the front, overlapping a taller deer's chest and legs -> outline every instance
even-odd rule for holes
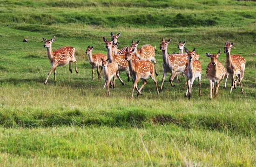
[[[105,80],[105,84],[104,84],[103,88],[105,88],[107,85],[107,91],[106,91],[106,96],[107,96],[108,94],[110,94],[108,85],[109,85],[109,83],[111,84],[112,77],[114,77],[112,87],[113,87],[113,89],[115,88],[115,74],[116,74],[118,67],[114,63],[108,63],[108,59],[104,60],[103,58],[101,58],[101,62],[102,62],[101,65],[103,67],[103,75],[102,76]]]

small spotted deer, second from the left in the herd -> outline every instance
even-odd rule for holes
[[[94,80],[94,68],[97,68],[97,73],[98,73],[98,79],[101,79],[101,71],[102,71],[102,62],[101,62],[101,58],[103,58],[104,60],[107,59],[107,56],[102,54],[102,53],[95,53],[92,54],[92,50],[93,50],[94,46],[88,46],[87,50],[86,50],[86,54],[88,54],[88,60],[89,60],[89,64],[92,66],[92,81]],[[101,66],[101,71],[99,72],[99,68]]]

